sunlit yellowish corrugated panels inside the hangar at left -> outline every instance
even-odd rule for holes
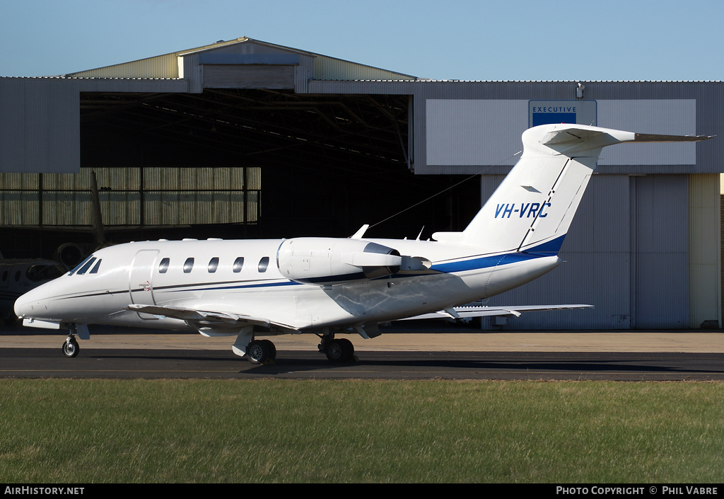
[[[106,226],[258,220],[261,168],[135,167],[81,168],[80,173],[42,177],[37,173],[0,173],[0,224],[90,226],[93,171]]]

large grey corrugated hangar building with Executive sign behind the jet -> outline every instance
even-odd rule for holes
[[[565,263],[487,300],[593,310],[482,327],[719,327],[723,90],[431,81],[251,38],[0,78],[0,249],[70,263],[79,256],[63,249],[101,239],[349,236],[363,223],[370,237],[426,239],[466,226],[531,126],[711,135],[605,149],[563,244]]]

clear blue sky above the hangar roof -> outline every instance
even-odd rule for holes
[[[724,80],[722,0],[0,0],[0,76],[248,36],[458,80]]]

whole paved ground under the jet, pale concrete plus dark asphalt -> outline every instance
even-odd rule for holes
[[[724,381],[719,330],[452,331],[350,335],[350,363],[329,363],[312,334],[272,337],[276,361],[257,365],[231,352],[233,337],[91,330],[69,359],[63,334],[21,328],[0,334],[0,377]]]

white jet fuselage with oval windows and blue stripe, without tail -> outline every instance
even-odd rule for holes
[[[374,279],[305,284],[279,270],[277,252],[285,241],[159,241],[108,247],[25,294],[15,311],[57,323],[188,329],[177,318],[125,310],[129,304],[161,305],[274,317],[275,323],[298,331],[342,328],[463,305],[520,286],[559,263],[555,255],[533,252],[483,255],[438,242],[365,239],[401,255],[425,255],[432,265]],[[319,239],[322,252],[326,241]]]

